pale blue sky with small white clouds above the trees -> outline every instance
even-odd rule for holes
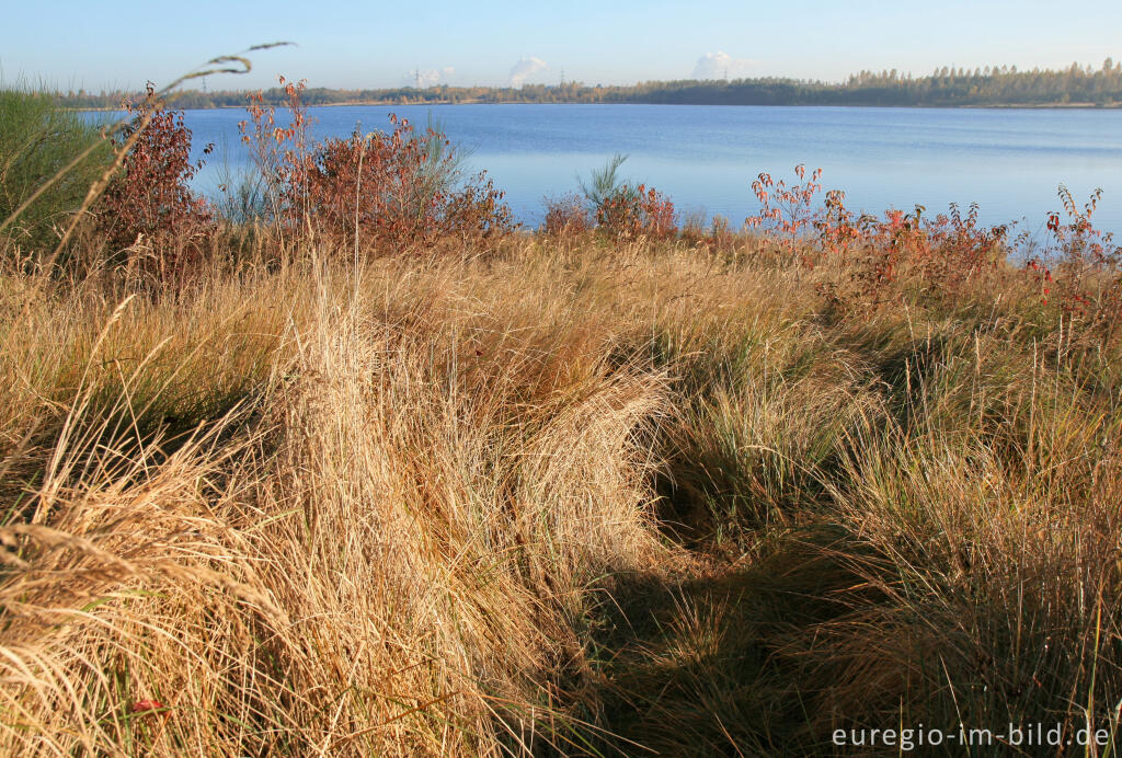
[[[173,10],[174,8],[174,10]],[[505,85],[568,81],[795,76],[840,80],[871,68],[1019,67],[1122,58],[1122,2],[12,2],[0,26],[0,75],[61,89],[167,82],[257,43],[246,76],[211,89]]]

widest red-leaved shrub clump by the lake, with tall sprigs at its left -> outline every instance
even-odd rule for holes
[[[457,157],[439,130],[417,131],[390,115],[388,132],[316,142],[307,132],[303,83],[282,78],[293,114],[276,123],[272,108],[251,95],[240,126],[272,188],[278,228],[320,239],[395,251],[458,239],[495,244],[516,227],[504,193],[484,174],[457,186]]]

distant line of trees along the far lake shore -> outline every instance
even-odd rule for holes
[[[70,108],[119,108],[135,98],[128,92],[85,91],[57,93]],[[284,91],[264,92],[266,104],[285,102]],[[1017,66],[954,68],[944,66],[928,76],[913,77],[896,70],[854,74],[842,83],[794,78],[682,80],[642,82],[619,86],[526,84],[521,87],[448,86],[387,90],[311,87],[309,105],[344,103],[668,103],[692,105],[1119,105],[1122,104],[1122,63],[1106,58],[1100,68],[1073,63],[1069,68],[1018,71]],[[178,108],[241,108],[246,93],[187,90]]]

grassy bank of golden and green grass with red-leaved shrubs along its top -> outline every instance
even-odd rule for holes
[[[0,750],[1119,752],[1093,205],[1033,246],[800,167],[699,228],[609,164],[526,230],[431,133],[258,107],[237,218],[144,102],[0,241]]]

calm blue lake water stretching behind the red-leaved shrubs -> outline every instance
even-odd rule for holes
[[[537,223],[542,197],[577,188],[577,175],[615,151],[623,175],[666,192],[683,212],[720,213],[739,225],[756,209],[749,184],[761,170],[791,176],[798,163],[821,167],[854,210],[928,213],[948,203],[981,205],[984,221],[1024,218],[1038,231],[1060,210],[1059,183],[1085,198],[1105,195],[1103,229],[1122,232],[1122,110],[965,110],[754,108],[697,105],[399,105],[313,108],[316,136],[387,128],[390,112],[425,124],[430,114],[469,148],[518,218]],[[246,159],[240,110],[187,111],[196,149],[220,147],[199,177],[217,184],[223,151]],[[226,146],[224,149],[222,146]]]

